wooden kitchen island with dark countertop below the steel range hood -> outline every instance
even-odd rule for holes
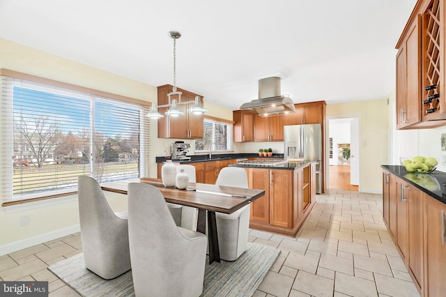
[[[244,168],[249,188],[265,191],[251,204],[249,227],[294,236],[316,204],[316,162],[229,166]]]

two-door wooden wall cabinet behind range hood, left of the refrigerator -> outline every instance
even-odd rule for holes
[[[254,116],[254,142],[282,142],[284,116]]]

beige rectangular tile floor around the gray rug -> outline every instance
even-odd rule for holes
[[[297,236],[251,230],[281,250],[260,296],[419,296],[382,220],[382,196],[331,190]],[[79,296],[47,266],[82,252],[79,233],[0,256],[0,280],[45,280],[49,296]]]

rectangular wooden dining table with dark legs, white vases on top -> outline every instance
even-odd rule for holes
[[[208,218],[209,264],[220,262],[217,221],[215,213],[231,214],[265,195],[264,190],[236,188],[207,183],[188,183],[187,188],[166,187],[161,178],[132,178],[122,181],[100,183],[102,190],[127,195],[129,183],[147,183],[155,186],[164,199],[173,204],[198,208],[197,231],[206,234],[206,213]]]

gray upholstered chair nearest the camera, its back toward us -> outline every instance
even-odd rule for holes
[[[207,238],[177,227],[160,190],[128,185],[128,231],[136,296],[199,296]]]

